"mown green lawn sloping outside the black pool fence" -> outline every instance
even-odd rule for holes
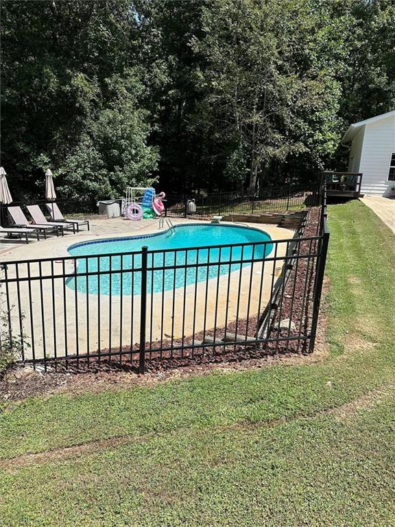
[[[395,237],[328,213],[326,358],[10,403],[0,526],[393,526]]]

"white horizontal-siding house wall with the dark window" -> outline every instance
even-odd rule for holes
[[[363,173],[363,194],[390,194],[395,181],[388,181],[390,159],[395,152],[395,117],[392,115],[363,126],[363,146],[359,172]],[[354,142],[354,141],[353,141]]]

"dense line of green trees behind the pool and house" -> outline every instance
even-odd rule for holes
[[[182,194],[342,167],[395,107],[390,0],[5,0],[1,164],[15,197]]]

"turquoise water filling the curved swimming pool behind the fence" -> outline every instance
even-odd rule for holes
[[[141,253],[136,252],[140,252],[142,246],[147,246],[147,292],[173,290],[234,272],[241,266],[250,266],[250,262],[246,260],[261,259],[270,254],[273,248],[270,242],[270,235],[259,229],[189,224],[178,225],[160,234],[75,244],[68,248],[69,254],[73,257],[84,257],[77,258],[77,277],[69,279],[67,285],[89,294],[141,294]],[[250,243],[254,245],[215,248],[221,245]],[[195,249],[191,250],[189,247]],[[123,254],[112,256],[117,253]],[[191,267],[170,268],[185,264]],[[196,264],[213,265],[200,267]],[[86,275],[86,272],[97,270],[115,272],[101,274],[99,277]],[[117,272],[121,270],[122,272]]]

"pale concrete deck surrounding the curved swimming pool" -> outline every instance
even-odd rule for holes
[[[172,218],[178,224],[208,224],[206,221]],[[230,224],[230,222],[226,222]],[[246,224],[267,232],[272,239],[290,239],[294,231],[267,224]],[[237,224],[235,224],[237,226]],[[167,229],[167,226],[165,224]],[[165,229],[163,229],[164,231]],[[38,258],[67,257],[71,244],[106,237],[158,233],[158,220],[129,222],[121,218],[92,220],[91,231],[81,231],[64,237],[26,244],[7,243],[1,247],[1,262]],[[141,240],[144,245],[144,240]],[[277,257],[283,257],[287,244],[278,244]],[[270,255],[272,256],[272,255]],[[262,312],[267,304],[274,280],[280,274],[282,261],[269,261],[245,266],[230,274],[187,285],[186,288],[147,295],[147,340],[171,340],[191,336],[203,329],[221,327],[248,315]],[[30,265],[30,277],[45,279],[9,284],[8,296],[12,308],[12,325],[22,331],[27,342],[26,357],[42,358],[73,353],[94,353],[97,349],[116,348],[139,342],[140,300],[134,296],[108,296],[76,292],[65,285],[61,262]],[[67,265],[66,272],[73,272]],[[2,272],[2,277],[4,276]],[[16,276],[15,266],[9,266],[8,277]],[[55,278],[53,278],[55,276]],[[19,266],[19,277],[27,277],[27,264]],[[23,314],[19,317],[19,309]]]

